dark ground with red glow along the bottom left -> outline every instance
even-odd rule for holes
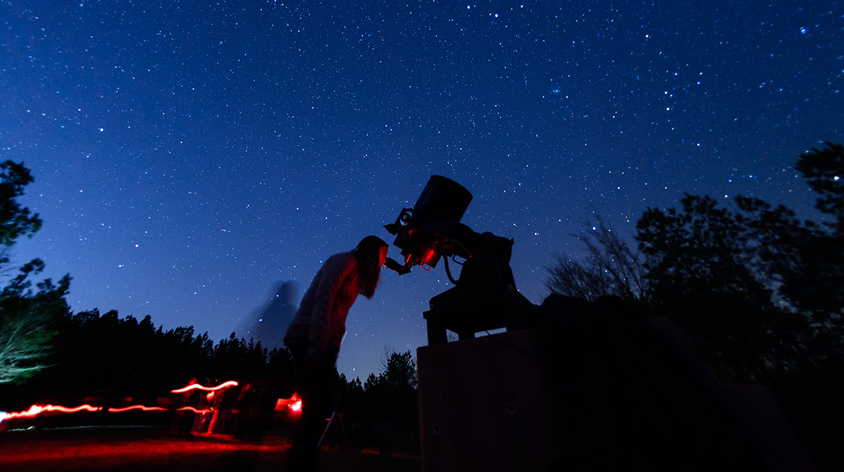
[[[0,470],[287,470],[289,443],[230,437],[175,437],[149,427],[68,428],[0,432]],[[323,449],[317,470],[416,472],[418,457]]]

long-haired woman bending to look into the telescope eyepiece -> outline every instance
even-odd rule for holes
[[[367,236],[350,252],[325,261],[290,322],[284,345],[299,376],[302,416],[290,448],[289,470],[313,470],[317,442],[332,410],[331,388],[346,316],[358,295],[372,298],[387,260],[387,243]]]

